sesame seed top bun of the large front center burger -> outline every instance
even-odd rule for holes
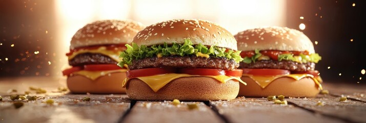
[[[234,36],[217,24],[199,19],[173,19],[157,23],[141,30],[133,38],[137,45],[184,44],[190,39],[193,44],[217,46],[237,50]]]

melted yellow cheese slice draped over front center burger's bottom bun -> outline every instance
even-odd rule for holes
[[[204,76],[204,77],[214,78],[223,84],[225,84],[226,81],[228,81],[228,80],[235,79],[235,80],[240,81],[240,83],[247,85],[244,81],[242,81],[240,79],[240,77],[226,76],[226,75],[211,76],[211,75],[190,75],[190,74],[167,73],[167,74],[159,74],[159,75],[136,77],[136,78],[144,81],[154,92],[157,92],[159,89],[161,89],[162,87],[164,87],[165,85],[167,85],[168,83],[170,83],[170,81],[172,81],[174,79],[181,78],[181,77],[194,77],[194,76]],[[129,79],[132,79],[132,78],[126,78],[123,81],[123,84],[122,84],[123,87],[126,87]]]

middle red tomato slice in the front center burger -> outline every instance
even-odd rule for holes
[[[225,70],[204,68],[181,68],[179,73],[190,75],[225,75]]]

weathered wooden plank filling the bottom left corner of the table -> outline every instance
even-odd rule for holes
[[[89,96],[90,101],[82,98]],[[52,98],[55,103],[43,103]],[[126,95],[46,96],[35,101],[22,101],[15,109],[9,96],[0,103],[0,122],[117,122],[129,109]]]

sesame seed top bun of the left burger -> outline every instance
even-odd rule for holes
[[[133,20],[99,20],[79,29],[71,39],[70,49],[94,45],[130,44],[143,26]]]

